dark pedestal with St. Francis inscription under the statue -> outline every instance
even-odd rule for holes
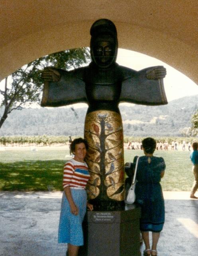
[[[84,220],[80,256],[139,256],[141,210],[135,204],[113,212],[92,211]]]

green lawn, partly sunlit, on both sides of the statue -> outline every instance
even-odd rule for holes
[[[6,150],[0,151],[0,190],[62,190],[63,164],[69,150]],[[125,150],[125,162],[132,162],[142,150]],[[156,151],[166,162],[163,190],[189,191],[194,176],[189,151]]]

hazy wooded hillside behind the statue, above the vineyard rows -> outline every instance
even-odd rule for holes
[[[0,136],[80,135],[84,133],[87,108],[39,108],[16,110],[0,129]],[[165,106],[120,106],[125,136],[181,136],[191,126],[198,95],[186,96]]]

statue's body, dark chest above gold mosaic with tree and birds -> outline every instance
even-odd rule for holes
[[[106,70],[89,66],[84,75],[89,105],[84,128],[90,148],[88,198],[94,209],[120,209],[124,202],[123,128],[118,109],[122,70],[117,65]]]

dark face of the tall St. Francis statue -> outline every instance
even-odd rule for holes
[[[108,66],[114,57],[114,47],[110,42],[98,41],[93,48],[94,58],[100,66]]]

